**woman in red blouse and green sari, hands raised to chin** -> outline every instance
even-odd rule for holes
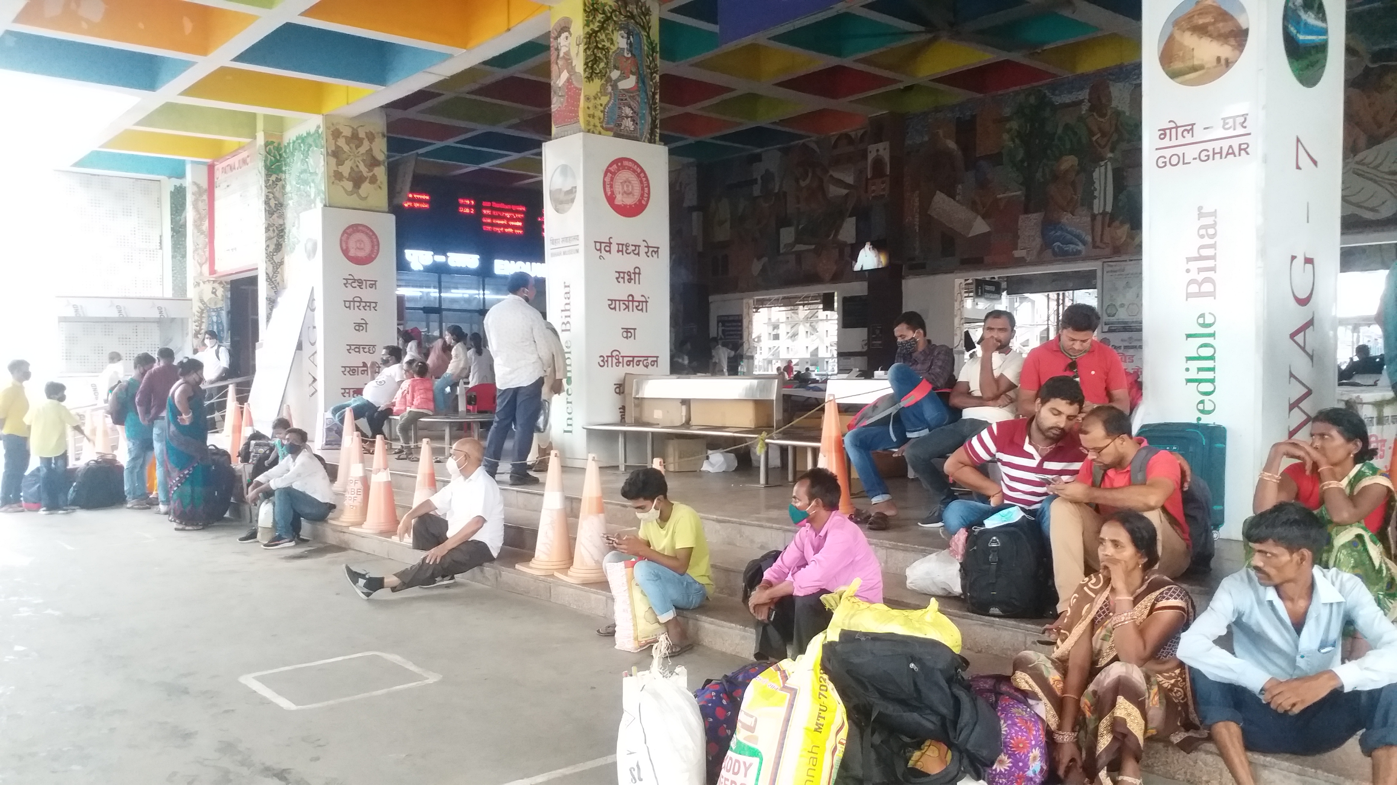
[[[1329,548],[1315,563],[1363,580],[1377,606],[1397,619],[1397,564],[1383,549],[1391,532],[1393,483],[1372,462],[1363,418],[1348,409],[1320,409],[1310,420],[1309,441],[1291,439],[1271,446],[1256,482],[1252,511],[1278,501],[1299,501],[1329,528]],[[1281,471],[1281,461],[1298,462]],[[1389,541],[1390,542],[1390,541]]]

